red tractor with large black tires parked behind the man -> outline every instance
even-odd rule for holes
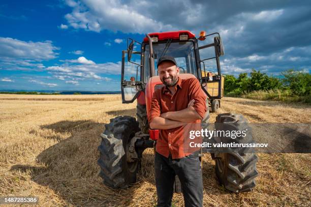
[[[199,46],[198,41],[211,41]],[[139,51],[134,51],[140,47]],[[164,85],[157,74],[157,60],[163,55],[173,56],[180,68],[182,79],[196,77],[206,94],[206,107],[220,107],[223,95],[224,78],[221,75],[220,56],[224,55],[222,39],[219,33],[205,35],[200,33],[197,39],[190,31],[155,32],[146,34],[142,42],[128,39],[128,49],[122,51],[121,90],[122,103],[132,103],[137,99],[136,118],[119,116],[110,119],[101,134],[102,142],[98,147],[100,157],[98,164],[103,183],[112,188],[127,188],[136,182],[137,172],[143,151],[153,148],[159,137],[159,130],[149,129],[147,115],[154,90]],[[127,56],[127,58],[126,58]],[[136,58],[135,58],[136,56]],[[208,127],[209,110],[207,110],[202,127]],[[242,115],[219,114],[216,117],[220,128],[243,130],[251,128]],[[204,138],[204,137],[203,137]],[[222,137],[215,137],[221,143]],[[238,137],[237,143],[253,143],[251,133]],[[216,176],[220,183],[233,192],[250,191],[255,187],[257,156],[245,149],[235,151],[209,151],[215,160]],[[175,192],[180,192],[178,178],[175,180]]]

